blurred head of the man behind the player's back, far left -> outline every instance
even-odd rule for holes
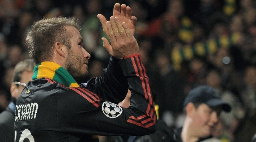
[[[10,92],[17,99],[28,81],[32,80],[34,65],[31,59],[20,61],[14,68]]]

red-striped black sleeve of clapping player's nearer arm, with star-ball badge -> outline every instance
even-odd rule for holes
[[[66,99],[58,98],[62,101],[58,106],[60,131],[92,135],[146,135],[156,131],[157,118],[141,56],[127,57],[120,65],[131,90],[130,106],[122,108],[86,88],[70,87],[70,97],[58,95]]]

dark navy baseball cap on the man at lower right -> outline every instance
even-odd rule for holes
[[[183,106],[186,107],[190,102],[205,103],[210,108],[221,105],[224,111],[229,112],[231,110],[231,106],[221,99],[217,90],[207,85],[198,86],[188,92]]]

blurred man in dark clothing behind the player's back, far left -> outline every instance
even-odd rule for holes
[[[12,99],[5,111],[0,114],[0,141],[9,142],[14,140],[14,119],[16,99],[33,75],[33,62],[31,59],[20,61],[14,68],[10,92]]]

